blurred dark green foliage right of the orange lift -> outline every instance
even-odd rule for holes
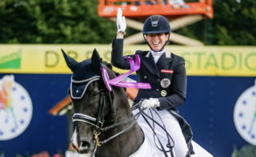
[[[256,0],[214,0],[213,5],[213,19],[175,32],[205,45],[256,45]]]

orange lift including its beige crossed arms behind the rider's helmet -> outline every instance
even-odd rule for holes
[[[185,0],[186,1],[186,0]],[[142,31],[146,18],[160,14],[170,21],[172,33],[170,41],[179,45],[202,46],[202,41],[184,37],[174,33],[174,30],[189,26],[203,19],[214,18],[212,0],[198,0],[198,2],[183,2],[183,0],[99,0],[98,16],[116,22],[118,8],[126,17],[126,24],[130,28]],[[144,42],[142,32],[126,37],[124,45],[140,44]]]

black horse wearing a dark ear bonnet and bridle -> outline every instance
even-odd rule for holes
[[[91,59],[79,63],[62,53],[73,72],[69,89],[75,112],[72,146],[78,153],[92,156],[95,152],[97,157],[130,156],[138,151],[143,133],[124,88],[112,86],[109,92],[102,80],[102,68],[110,79],[116,77],[115,73],[101,64],[95,49]]]

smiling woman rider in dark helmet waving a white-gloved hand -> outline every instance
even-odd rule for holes
[[[118,9],[117,26],[117,37],[112,42],[111,63],[119,69],[130,69],[129,61],[122,57],[126,19],[122,17],[121,9]],[[137,71],[138,82],[150,83],[151,89],[139,89],[134,104],[143,99],[142,108],[157,108],[166,131],[174,139],[175,155],[185,157],[194,154],[191,145],[193,134],[190,126],[178,115],[176,108],[186,100],[186,69],[184,58],[170,53],[165,47],[170,32],[170,24],[163,16],[153,15],[146,19],[143,37],[150,50],[137,50],[135,54],[141,60],[140,69]],[[135,55],[129,56],[135,58]],[[161,124],[161,120],[155,116],[154,119]]]

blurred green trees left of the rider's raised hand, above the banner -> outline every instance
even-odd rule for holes
[[[106,44],[114,22],[99,18],[98,1],[2,0],[0,43]]]

